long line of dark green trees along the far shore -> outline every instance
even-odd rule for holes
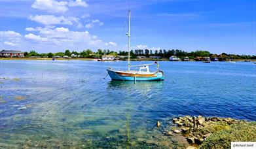
[[[87,50],[82,50],[82,52],[76,52],[75,50],[65,50],[65,52],[57,52],[57,53],[37,53],[35,50],[31,50],[30,52],[25,52],[24,56],[26,57],[31,57],[31,56],[39,56],[39,57],[48,57],[52,58],[54,56],[68,56],[71,57],[73,56],[79,57],[79,58],[102,58],[103,55],[113,55],[113,56],[128,56],[127,51],[119,51],[119,52],[114,52],[113,50],[101,50],[98,49],[97,52],[92,52],[92,50],[87,49]],[[184,58],[184,57],[189,57],[191,59],[196,58],[196,57],[221,57],[221,58],[232,58],[232,59],[256,59],[256,56],[251,56],[251,55],[238,55],[238,54],[211,54],[210,52],[206,50],[196,50],[193,52],[185,52],[183,50],[131,50],[130,51],[130,57],[131,58],[136,58],[137,56],[145,56],[149,58],[150,56],[158,56],[159,58],[170,58],[170,56],[177,56],[179,58]]]

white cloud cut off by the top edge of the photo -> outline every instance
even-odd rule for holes
[[[32,8],[46,10],[47,12],[66,12],[68,7],[88,7],[88,4],[82,0],[75,1],[55,1],[55,0],[35,0],[31,5]]]

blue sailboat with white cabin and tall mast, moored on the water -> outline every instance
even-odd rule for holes
[[[128,80],[128,81],[154,81],[154,80],[164,80],[164,73],[159,69],[157,62],[148,63],[143,65],[130,65],[130,22],[131,22],[131,10],[128,13],[128,70],[117,71],[112,68],[107,68],[107,73],[112,80]],[[157,71],[149,71],[149,65],[157,65]],[[131,67],[139,67],[138,71],[130,70]]]

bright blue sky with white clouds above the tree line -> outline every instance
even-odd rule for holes
[[[0,49],[256,54],[255,0],[0,0]]]

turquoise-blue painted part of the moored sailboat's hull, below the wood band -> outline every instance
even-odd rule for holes
[[[112,80],[128,80],[128,81],[155,81],[155,80],[164,80],[164,76],[162,74],[158,74],[155,77],[134,77],[134,76],[121,76],[115,71],[107,69],[107,73],[109,73],[109,76],[111,77]]]

